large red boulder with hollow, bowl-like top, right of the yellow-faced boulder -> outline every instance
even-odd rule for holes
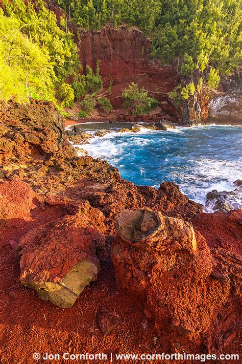
[[[116,220],[112,259],[119,284],[144,301],[160,332],[198,336],[208,330],[230,285],[212,276],[213,259],[190,223],[150,209]]]

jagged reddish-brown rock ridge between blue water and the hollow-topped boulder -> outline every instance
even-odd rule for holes
[[[109,186],[92,182],[82,188],[70,189],[69,193],[65,191],[66,196],[67,194],[70,197],[77,194],[78,198],[86,199],[91,206],[99,208],[104,213],[106,224],[111,230],[114,228],[115,219],[125,209],[150,207],[168,216],[188,221],[202,212],[202,205],[190,201],[173,182],[163,182],[158,189],[136,186],[125,180],[111,183]]]

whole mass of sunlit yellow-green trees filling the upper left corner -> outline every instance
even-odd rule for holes
[[[0,10],[1,98],[26,102],[30,97],[59,99],[71,106],[73,90],[65,80],[80,69],[77,46],[42,0],[4,1]]]

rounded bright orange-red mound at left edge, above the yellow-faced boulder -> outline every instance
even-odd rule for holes
[[[26,182],[0,181],[0,219],[28,219],[35,193]]]

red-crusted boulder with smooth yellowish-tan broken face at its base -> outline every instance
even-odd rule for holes
[[[96,280],[100,264],[95,251],[102,235],[85,215],[65,216],[40,226],[20,240],[20,280],[40,298],[59,307],[72,306]]]

